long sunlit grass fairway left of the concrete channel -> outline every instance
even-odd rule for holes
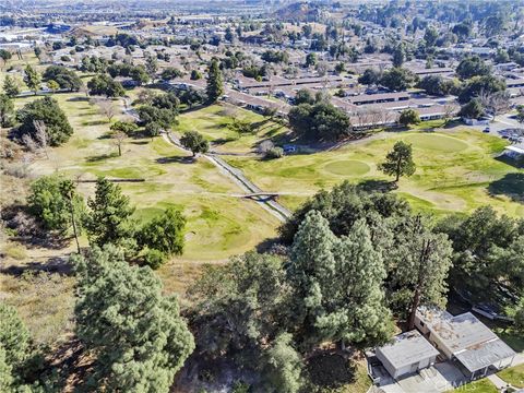
[[[136,206],[138,219],[150,218],[168,206],[183,211],[188,226],[181,260],[225,260],[275,235],[276,218],[253,202],[234,196],[240,190],[205,158],[193,162],[162,138],[128,139],[118,157],[111,140],[104,138],[109,123],[96,107],[82,94],[55,98],[75,132],[68,143],[52,150],[49,159],[34,163],[35,175],[59,171],[80,179],[145,178],[141,183],[122,183],[123,192]],[[31,99],[17,99],[16,105]],[[87,196],[94,187],[83,183],[81,191]]]

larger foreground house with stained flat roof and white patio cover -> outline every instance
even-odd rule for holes
[[[452,315],[438,308],[420,307],[415,325],[471,379],[513,362],[515,352],[471,312]]]

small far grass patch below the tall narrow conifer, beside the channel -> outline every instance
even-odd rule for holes
[[[239,135],[228,129],[233,119],[246,120],[253,124],[253,132]],[[288,130],[269,121],[259,114],[239,109],[231,105],[212,105],[182,112],[175,127],[177,133],[196,130],[213,143],[213,150],[224,153],[249,153],[264,139],[276,139]]]

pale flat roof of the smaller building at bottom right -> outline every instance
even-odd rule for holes
[[[415,330],[395,336],[392,343],[377,349],[396,369],[439,355],[439,352]]]

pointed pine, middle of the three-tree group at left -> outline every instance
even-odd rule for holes
[[[118,243],[132,234],[130,217],[134,209],[118,184],[106,178],[96,181],[95,198],[87,201],[91,214],[86,223],[90,241],[95,245]]]

